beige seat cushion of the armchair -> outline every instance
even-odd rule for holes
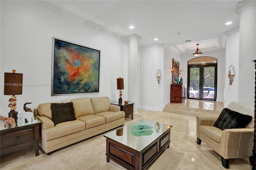
[[[222,134],[222,130],[220,128],[202,125],[200,126],[199,130],[200,134],[204,133],[206,136],[212,138],[212,140],[220,143],[220,137]]]

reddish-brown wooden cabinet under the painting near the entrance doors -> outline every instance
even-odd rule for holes
[[[186,101],[187,88],[182,84],[171,84],[170,103],[183,103]]]

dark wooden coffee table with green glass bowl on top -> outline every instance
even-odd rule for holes
[[[139,125],[144,128],[139,129]],[[142,119],[105,134],[107,162],[111,159],[128,170],[148,168],[170,147],[171,127],[172,125]]]

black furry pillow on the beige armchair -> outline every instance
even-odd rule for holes
[[[244,128],[251,120],[252,116],[250,115],[244,115],[224,108],[213,126],[221,130],[226,128]]]

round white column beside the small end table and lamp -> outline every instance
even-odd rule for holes
[[[140,36],[126,36],[129,40],[128,100],[133,102],[133,116],[138,116],[138,40]]]

